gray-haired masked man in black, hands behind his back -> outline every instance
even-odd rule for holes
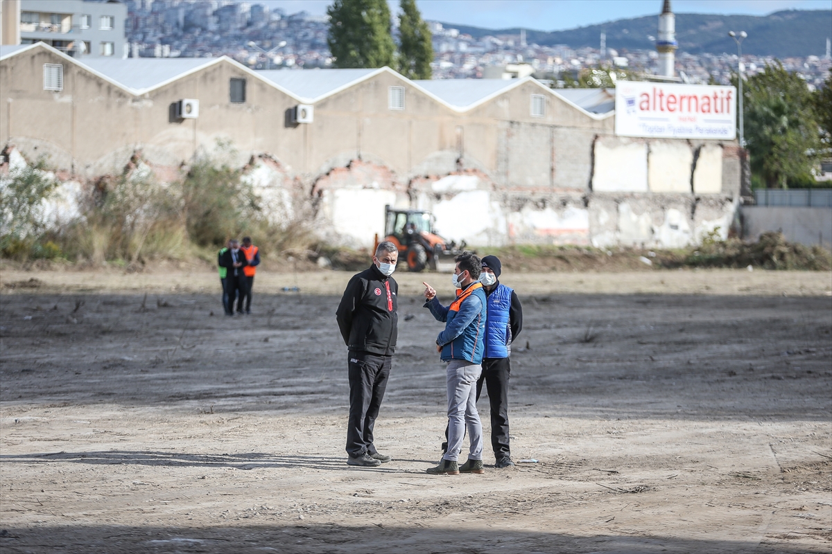
[[[380,243],[373,265],[349,280],[335,312],[349,348],[349,465],[372,468],[390,461],[375,449],[373,427],[396,349],[399,285],[390,276],[398,260],[394,243]]]

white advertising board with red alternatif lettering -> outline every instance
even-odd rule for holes
[[[618,81],[616,135],[734,140],[736,89]]]

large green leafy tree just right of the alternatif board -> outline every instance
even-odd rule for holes
[[[786,189],[790,180],[804,181],[820,148],[815,103],[805,81],[775,61],[745,81],[744,89],[751,171],[768,188]]]

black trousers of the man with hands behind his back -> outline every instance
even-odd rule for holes
[[[353,458],[376,452],[373,428],[387,390],[391,360],[389,355],[349,351],[347,453]]]

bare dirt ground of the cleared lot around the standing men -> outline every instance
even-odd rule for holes
[[[258,275],[229,319],[215,273],[3,271],[0,551],[832,549],[830,273],[505,276],[512,453],[537,462],[442,477],[441,327],[416,295],[450,279],[396,277],[394,460],[357,469],[348,273]]]

